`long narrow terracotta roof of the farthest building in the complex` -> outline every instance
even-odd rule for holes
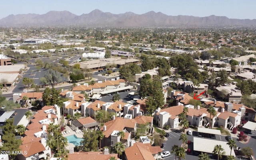
[[[92,90],[92,88],[105,88],[106,86],[114,86],[114,85],[119,85],[120,82],[125,82],[123,79],[119,80],[107,80],[106,82],[102,83],[95,83],[93,86],[92,85],[79,85],[76,86],[72,89],[72,91],[82,91],[82,90]]]

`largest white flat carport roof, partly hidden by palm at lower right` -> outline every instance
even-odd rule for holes
[[[231,151],[231,155],[236,157],[234,149],[232,148],[232,150],[230,150],[227,142],[212,139],[203,139],[198,137],[193,138],[193,148],[195,151],[212,153],[212,151],[214,150],[214,146],[216,145],[221,145],[221,147],[225,151],[225,156],[229,156]]]

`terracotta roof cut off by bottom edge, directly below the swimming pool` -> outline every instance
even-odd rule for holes
[[[68,153],[68,160],[109,160],[110,157],[117,157],[117,154],[104,154],[102,152],[74,152]]]

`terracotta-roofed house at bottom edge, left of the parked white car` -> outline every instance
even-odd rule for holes
[[[161,160],[160,146],[151,146],[150,143],[136,142],[124,151],[125,160]]]

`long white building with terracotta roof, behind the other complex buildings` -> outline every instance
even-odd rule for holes
[[[98,81],[94,85],[89,85],[88,83],[84,83],[83,85],[78,84],[78,86],[74,87],[72,91],[76,93],[85,91],[86,94],[90,96],[92,94],[102,94],[104,91],[109,91],[111,93],[115,89],[128,90],[125,86],[125,80],[117,78],[117,80],[107,80],[105,82]]]

